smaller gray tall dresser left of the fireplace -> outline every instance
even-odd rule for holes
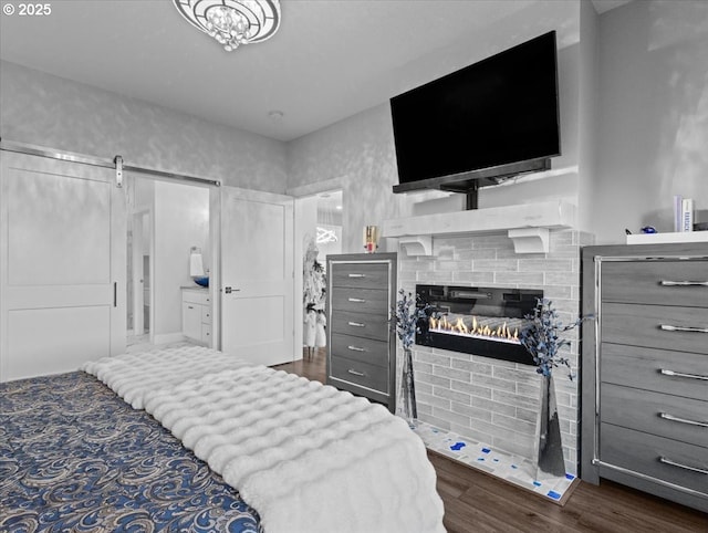
[[[395,411],[396,254],[327,255],[327,384]]]

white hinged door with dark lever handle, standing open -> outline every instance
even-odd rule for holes
[[[221,349],[294,360],[293,199],[221,187]]]

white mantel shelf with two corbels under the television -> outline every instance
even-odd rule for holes
[[[433,236],[508,231],[517,253],[546,253],[549,229],[574,228],[575,223],[573,203],[550,200],[384,220],[382,237],[398,238],[399,247],[408,255],[430,255]]]

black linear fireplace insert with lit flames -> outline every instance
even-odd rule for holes
[[[433,309],[419,322],[416,344],[533,365],[519,339],[525,316],[543,291],[527,289],[416,285],[419,306]]]

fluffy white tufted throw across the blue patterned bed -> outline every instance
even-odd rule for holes
[[[221,474],[267,533],[445,531],[425,446],[381,405],[208,348],[84,370]]]

